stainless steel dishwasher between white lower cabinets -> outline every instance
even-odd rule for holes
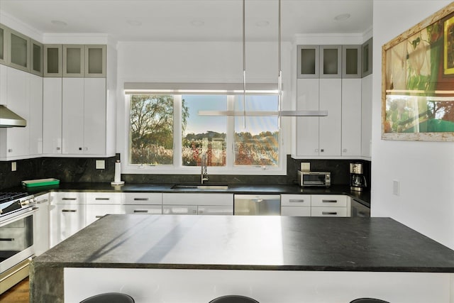
[[[233,199],[233,214],[236,216],[279,216],[279,194],[236,194]]]

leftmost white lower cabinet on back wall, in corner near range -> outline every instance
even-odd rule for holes
[[[84,192],[50,193],[50,247],[86,226]]]

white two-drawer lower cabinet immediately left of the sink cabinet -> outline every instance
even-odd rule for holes
[[[149,192],[123,193],[126,214],[162,214],[162,194]]]

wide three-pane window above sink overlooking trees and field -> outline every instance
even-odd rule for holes
[[[277,111],[277,95],[143,94],[128,103],[128,173],[282,174],[282,138],[275,116],[203,116],[199,111]],[[245,107],[244,107],[245,106]],[[124,163],[123,163],[124,165]]]

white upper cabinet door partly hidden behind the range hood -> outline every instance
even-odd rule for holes
[[[6,105],[26,121],[30,116],[28,72],[7,67],[6,72],[7,96]],[[28,155],[30,150],[30,126],[0,128],[0,157],[13,158]]]

